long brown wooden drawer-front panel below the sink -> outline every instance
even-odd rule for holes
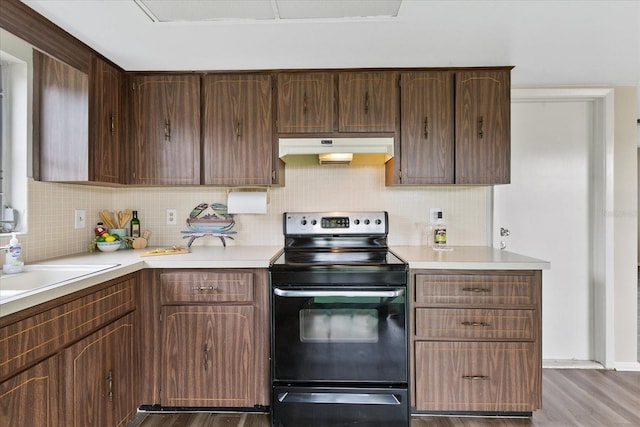
[[[0,329],[0,380],[135,309],[135,279]]]

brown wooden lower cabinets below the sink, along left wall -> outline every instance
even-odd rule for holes
[[[136,276],[0,317],[0,426],[124,426],[137,409]]]

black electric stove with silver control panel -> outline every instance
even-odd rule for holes
[[[269,268],[272,425],[409,426],[408,266],[387,212],[283,215]]]

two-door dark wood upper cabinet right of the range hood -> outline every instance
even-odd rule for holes
[[[387,184],[508,183],[510,70],[402,72],[400,139]]]

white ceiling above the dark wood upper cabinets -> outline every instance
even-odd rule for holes
[[[397,2],[182,0],[173,22],[140,7],[168,0],[23,2],[129,71],[515,65],[514,85],[640,85],[640,0],[404,0],[373,17],[358,7]],[[312,18],[246,16],[274,9]]]

